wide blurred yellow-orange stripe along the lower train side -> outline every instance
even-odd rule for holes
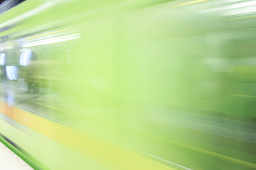
[[[143,157],[129,149],[113,143],[77,132],[46,118],[22,111],[0,101],[0,111],[9,118],[25,125],[32,130],[65,145],[75,152],[108,166],[110,169],[124,170],[175,170],[170,166]]]

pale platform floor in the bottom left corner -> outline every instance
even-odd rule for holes
[[[0,169],[1,170],[33,170],[23,162],[14,152],[0,142]]]

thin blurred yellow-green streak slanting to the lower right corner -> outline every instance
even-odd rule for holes
[[[154,137],[154,138],[157,138],[157,139],[159,139],[159,140],[164,140],[164,141],[169,142],[169,143],[171,143],[171,144],[173,144],[173,145],[178,145],[178,146],[181,146],[181,147],[186,147],[186,148],[188,148],[188,149],[195,150],[196,152],[201,152],[201,153],[203,153],[203,154],[208,154],[208,155],[211,155],[211,156],[213,156],[213,157],[218,157],[218,158],[220,158],[220,159],[225,159],[225,160],[230,161],[230,162],[235,162],[235,163],[237,163],[237,164],[241,164],[241,165],[243,165],[243,166],[250,167],[250,168],[252,168],[252,169],[256,169],[256,164],[253,164],[253,163],[251,163],[251,162],[246,162],[246,161],[243,161],[243,160],[241,160],[241,159],[236,159],[236,158],[234,158],[234,157],[229,157],[229,156],[224,155],[224,154],[218,154],[218,153],[216,153],[216,152],[208,151],[208,150],[206,150],[206,149],[201,149],[201,148],[193,147],[193,146],[191,146],[191,145],[186,145],[186,144],[183,144],[183,143],[180,143],[180,142],[175,142],[175,141],[173,141],[173,140],[168,140],[168,139],[166,139],[166,138],[164,138],[164,137],[158,137],[158,136],[149,135],[149,134],[147,134],[147,136],[149,136],[149,137]]]

